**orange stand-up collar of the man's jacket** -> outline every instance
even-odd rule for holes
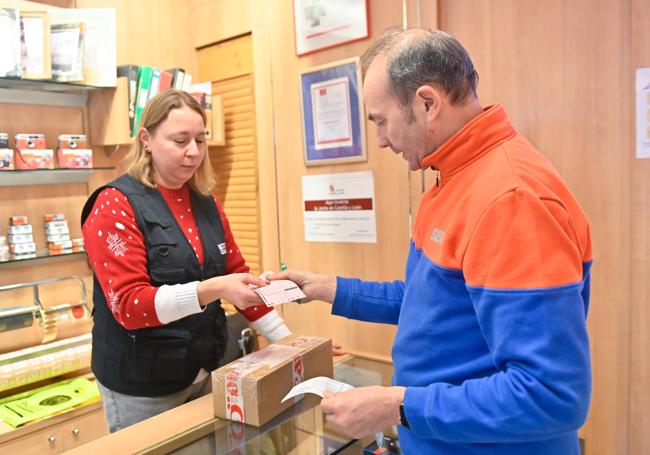
[[[487,106],[481,114],[425,157],[422,167],[439,171],[441,178],[449,177],[516,134],[501,104]]]

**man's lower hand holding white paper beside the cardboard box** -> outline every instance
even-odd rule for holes
[[[352,438],[383,431],[399,422],[404,387],[359,387],[333,394],[325,391],[321,408],[327,421]]]

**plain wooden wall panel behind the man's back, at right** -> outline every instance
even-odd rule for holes
[[[637,197],[636,208],[631,204],[634,193],[647,193],[642,185],[632,187],[633,170],[637,183],[650,176],[647,167],[641,170],[645,163],[634,161],[634,67],[629,49],[642,38],[630,32],[630,2],[439,3],[441,28],[455,35],[474,59],[480,99],[506,106],[515,127],[554,162],[592,224],[595,262],[588,325],[593,397],[582,431],[587,453],[645,453],[631,450],[630,438],[636,436],[630,434],[630,424],[643,420],[628,414],[630,324],[649,322],[647,312],[645,320],[631,319],[637,305],[647,307],[648,296],[647,279],[631,280],[630,256],[644,251],[639,237],[647,239],[641,234],[647,228],[635,228],[637,235],[630,235],[631,227],[639,226],[633,212],[642,207],[648,211],[645,196]],[[647,44],[645,49],[647,55]],[[647,272],[647,260],[644,264]],[[644,341],[643,336],[638,341]],[[647,358],[647,343],[638,352]],[[650,376],[647,369],[644,372],[647,396]],[[647,399],[637,403],[647,414]]]

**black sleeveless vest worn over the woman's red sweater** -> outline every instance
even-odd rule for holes
[[[146,243],[147,270],[153,286],[202,281],[225,274],[225,250],[221,252],[225,244],[223,226],[212,197],[202,197],[190,190],[203,243],[201,267],[162,195],[128,175],[97,189],[88,198],[81,214],[82,225],[97,196],[107,187],[124,193],[135,211]],[[161,396],[188,387],[200,368],[212,371],[217,367],[228,341],[226,316],[219,300],[201,313],[164,326],[127,330],[115,320],[97,277],[93,278],[91,365],[101,384],[127,395]]]

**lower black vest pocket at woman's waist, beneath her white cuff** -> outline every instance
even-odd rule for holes
[[[131,339],[130,352],[124,352],[120,362],[126,380],[157,385],[185,378],[192,341],[189,331],[161,328],[132,334]]]

